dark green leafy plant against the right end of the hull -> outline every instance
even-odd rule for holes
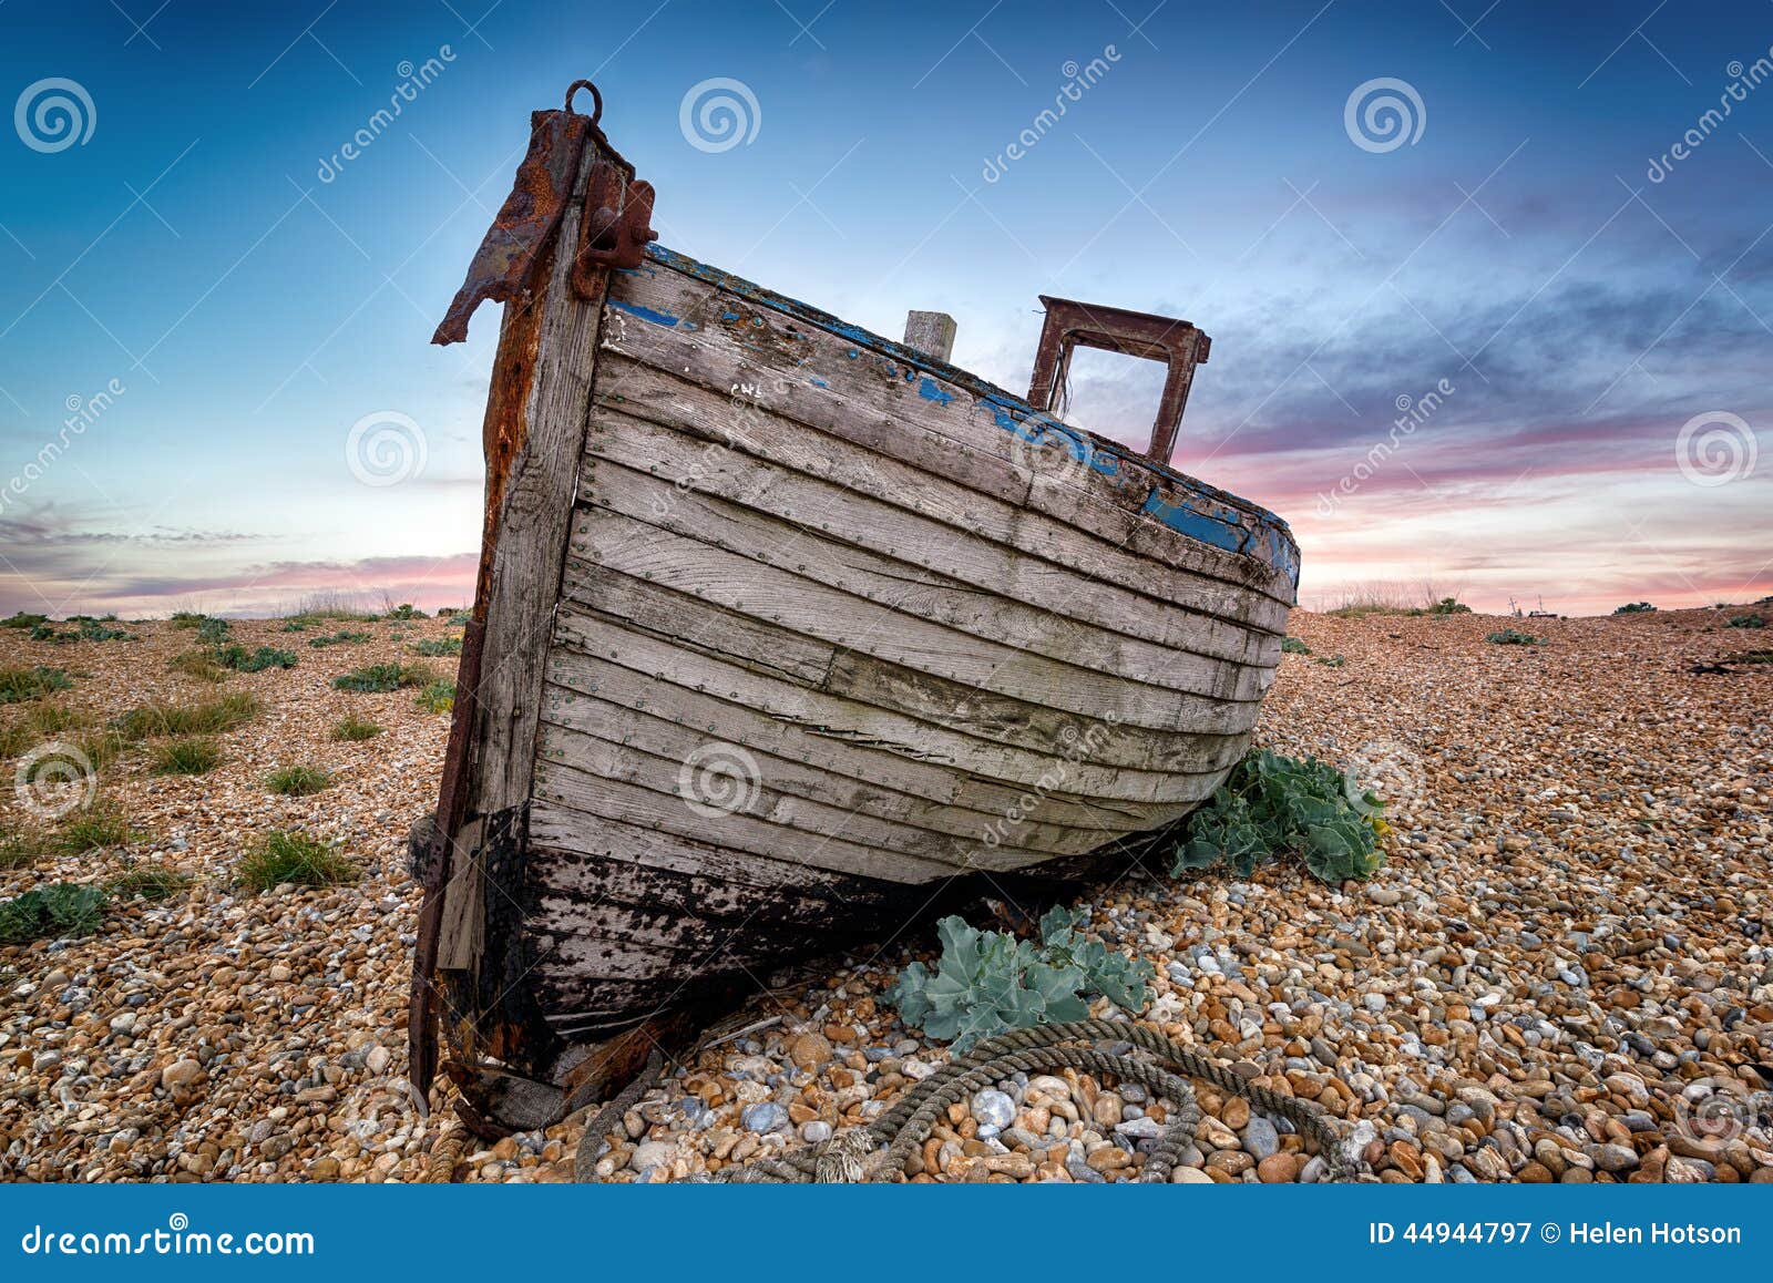
[[[1324,883],[1371,877],[1385,863],[1381,803],[1316,757],[1257,750],[1181,826],[1170,874],[1257,865],[1293,856]]]

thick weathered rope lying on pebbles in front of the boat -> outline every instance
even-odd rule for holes
[[[1126,1042],[1144,1054],[1113,1054],[1096,1046]],[[622,1088],[587,1124],[578,1143],[573,1175],[580,1182],[598,1178],[598,1141],[658,1079],[663,1058],[654,1051],[633,1083]],[[986,1038],[963,1056],[949,1061],[922,1083],[911,1086],[892,1109],[872,1124],[851,1127],[828,1141],[810,1145],[778,1159],[759,1159],[743,1166],[729,1166],[713,1177],[691,1180],[761,1182],[761,1184],[860,1184],[897,1180],[906,1162],[918,1152],[949,1106],[966,1100],[980,1088],[1012,1074],[1041,1074],[1057,1069],[1076,1069],[1097,1077],[1115,1077],[1138,1083],[1154,1097],[1175,1102],[1170,1124],[1145,1157],[1140,1171],[1144,1182],[1165,1182],[1181,1161],[1183,1150],[1193,1145],[1200,1124],[1200,1106],[1183,1076],[1211,1083],[1222,1092],[1239,1095],[1266,1115],[1285,1118],[1300,1134],[1317,1145],[1330,1164],[1332,1180],[1356,1180],[1363,1164],[1349,1152],[1323,1106],[1312,1100],[1282,1095],[1266,1086],[1248,1083],[1220,1060],[1163,1037],[1131,1021],[1073,1021],[1032,1030],[1012,1030]]]

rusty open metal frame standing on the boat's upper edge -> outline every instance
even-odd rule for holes
[[[1195,365],[1206,365],[1213,340],[1188,321],[1152,312],[1129,312],[1048,294],[1041,294],[1041,305],[1046,308],[1046,324],[1041,328],[1041,346],[1034,353],[1028,404],[1048,413],[1055,409],[1053,402],[1071,370],[1071,354],[1078,347],[1163,362],[1168,376],[1158,399],[1158,418],[1151,425],[1145,457],[1156,464],[1168,464],[1175,450],[1175,434],[1183,425],[1183,409],[1188,406],[1188,388],[1195,381]]]

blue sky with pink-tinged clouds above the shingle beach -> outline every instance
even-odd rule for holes
[[[1773,592],[1766,0],[0,0],[0,613],[468,601],[429,337],[580,76],[665,245],[1014,392],[1039,294],[1199,324],[1174,464],[1305,606]]]

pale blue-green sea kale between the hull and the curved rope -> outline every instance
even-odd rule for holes
[[[1122,1010],[1145,1007],[1151,962],[1078,934],[1087,914],[1062,907],[1041,918],[1041,943],[968,927],[961,916],[936,927],[941,960],[931,973],[913,962],[888,999],[906,1026],[966,1051],[980,1038],[1035,1024],[1082,1021],[1083,994],[1097,992]]]

